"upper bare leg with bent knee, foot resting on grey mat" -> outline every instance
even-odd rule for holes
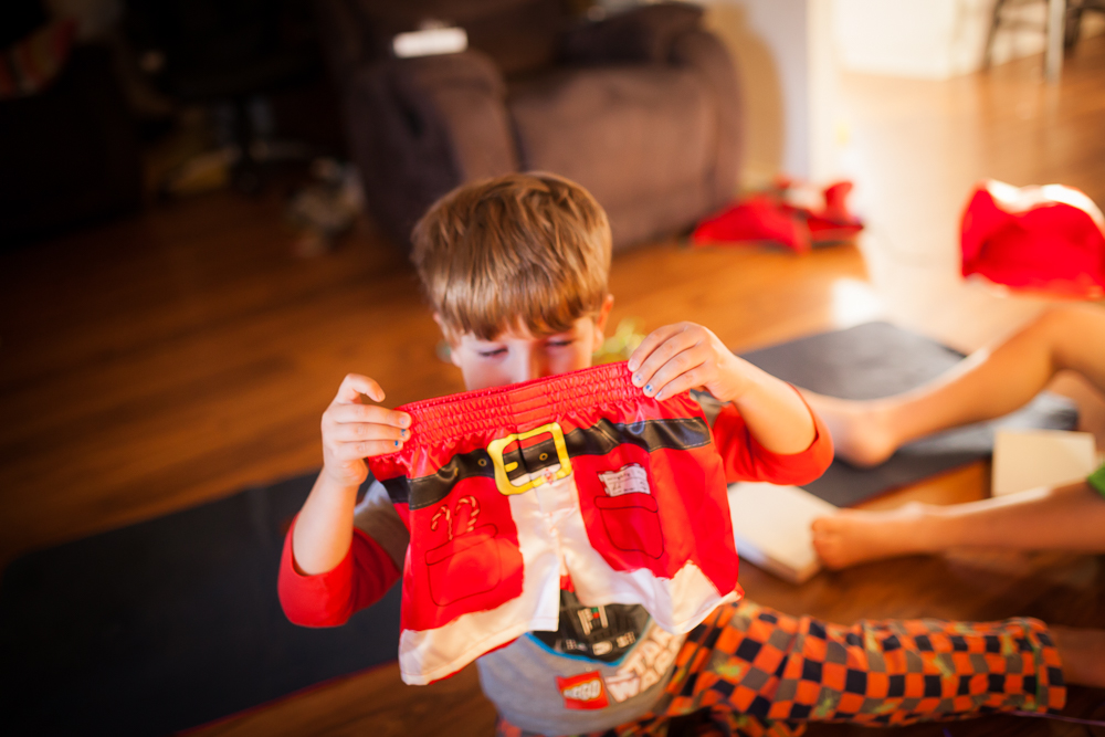
[[[870,401],[802,393],[829,425],[840,457],[877,465],[913,440],[1023,407],[1062,369],[1077,371],[1105,392],[1102,346],[1105,310],[1057,307],[912,391]]]

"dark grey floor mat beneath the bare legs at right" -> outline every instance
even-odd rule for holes
[[[962,359],[959,354],[887,323],[791,340],[743,354],[768,373],[822,394],[875,399],[933,379]],[[804,488],[836,506],[873,496],[985,459],[993,451],[994,427],[1073,430],[1077,409],[1064,397],[1042,392],[1021,410],[992,422],[943,432],[904,445],[886,463],[869,470],[843,461]]]

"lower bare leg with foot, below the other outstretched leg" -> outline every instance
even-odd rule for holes
[[[1082,482],[967,504],[842,510],[813,522],[813,547],[829,568],[968,546],[1105,552],[1105,499]]]

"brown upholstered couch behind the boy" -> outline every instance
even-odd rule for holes
[[[456,185],[552,171],[606,208],[614,248],[676,232],[730,199],[741,144],[733,62],[702,11],[664,3],[590,22],[558,0],[319,0],[370,210],[399,243]],[[463,53],[396,59],[427,20]]]

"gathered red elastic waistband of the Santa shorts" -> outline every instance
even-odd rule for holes
[[[646,397],[630,380],[625,362],[534,379],[508,387],[469,391],[403,404],[415,443],[439,443],[457,436],[505,427],[518,427],[578,411]]]

